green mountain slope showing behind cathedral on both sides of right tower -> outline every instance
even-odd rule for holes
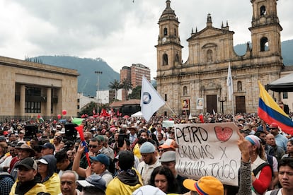
[[[250,43],[251,44],[251,43]],[[285,66],[293,65],[293,40],[286,40],[281,43],[283,63]],[[246,43],[234,46],[236,54],[243,55],[246,52]]]

